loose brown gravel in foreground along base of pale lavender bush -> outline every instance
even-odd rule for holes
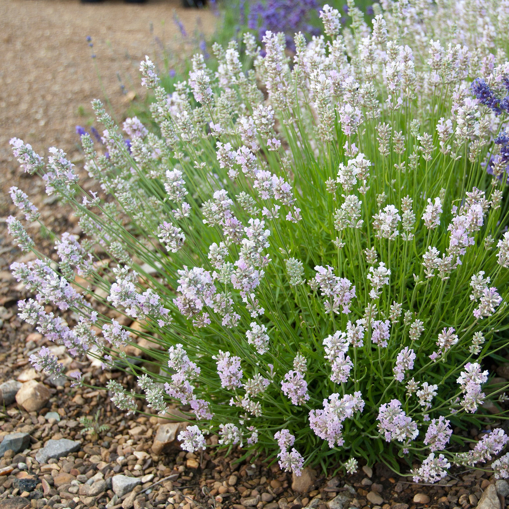
[[[23,292],[20,292],[24,296]],[[30,434],[30,447],[16,455],[8,451],[0,459],[0,509],[23,507],[38,509],[471,509],[495,479],[490,472],[461,472],[447,476],[435,486],[409,483],[387,467],[364,466],[354,475],[334,475],[334,469],[316,472],[304,491],[295,491],[291,474],[281,472],[263,457],[241,459],[244,451],[207,449],[203,455],[169,448],[154,454],[152,445],[160,426],[150,409],[139,409],[149,415],[126,417],[117,411],[104,390],[107,380],[114,378],[126,389],[135,388],[134,376],[122,371],[102,371],[87,359],[70,359],[65,352],[59,357],[68,369],[79,369],[94,387],[71,388],[69,382],[52,383],[44,376],[30,372],[27,357],[47,344],[32,326],[20,323],[5,311],[5,324],[0,334],[0,383],[10,379],[34,378],[49,390],[50,399],[38,412],[26,412],[16,403],[0,413],[0,442],[16,432]],[[68,319],[69,317],[66,317]],[[56,386],[55,386],[56,385]],[[186,408],[182,408],[186,410]],[[47,413],[56,412],[60,422]],[[93,418],[98,412],[98,425],[108,425],[98,434],[81,434],[82,416]],[[49,439],[80,440],[81,446],[65,458],[50,459],[39,464],[37,451]],[[217,443],[217,436],[207,442]],[[20,464],[25,464],[20,465]],[[21,466],[21,469],[19,468]],[[24,470],[23,470],[24,469]],[[142,484],[115,498],[111,477],[124,474],[143,478]],[[19,491],[21,477],[34,482],[24,493]],[[94,477],[91,487],[84,486]],[[498,493],[508,493],[505,480],[496,484]],[[98,491],[99,490],[99,491]],[[90,493],[90,494],[89,494]],[[499,495],[500,509],[509,497]],[[13,505],[14,504],[14,505]],[[15,505],[17,504],[17,505]],[[30,504],[30,505],[29,505]],[[479,509],[486,506],[479,504]]]

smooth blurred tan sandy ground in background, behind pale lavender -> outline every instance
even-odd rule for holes
[[[72,151],[75,125],[90,119],[90,101],[105,94],[121,120],[128,99],[119,77],[127,91],[144,94],[137,70],[144,55],[162,46],[180,52],[174,13],[189,34],[208,35],[216,21],[208,10],[183,9],[179,0],[0,0],[0,162],[12,159],[12,136],[41,154],[52,145]]]

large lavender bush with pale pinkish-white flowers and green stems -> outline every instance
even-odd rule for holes
[[[469,448],[453,434],[506,418],[493,400],[509,385],[483,388],[486,359],[508,344],[506,6],[374,8],[369,27],[350,2],[342,30],[324,6],[324,35],[296,34],[293,61],[284,34],[265,34],[265,56],[244,35],[252,69],[237,43],[215,45],[217,72],[197,54],[170,95],[147,57],[161,135],[128,119],[126,143],[94,101],[104,148],[82,134],[90,191],[62,151],[44,166],[12,140],[86,234],[55,240],[58,267],[13,264],[36,296],[21,318],[75,355],[128,365],[139,389],[108,385],[120,409],[184,405],[188,451],[217,433],[218,446],[265,450],[296,475],[358,460],[408,473],[420,460],[409,475],[432,483],[451,464],[483,468],[508,440],[494,427]],[[18,219],[9,228],[36,250]],[[139,346],[156,369],[121,349],[123,316],[164,347]],[[48,352],[34,364],[60,373]],[[495,475],[508,465],[494,461]]]

